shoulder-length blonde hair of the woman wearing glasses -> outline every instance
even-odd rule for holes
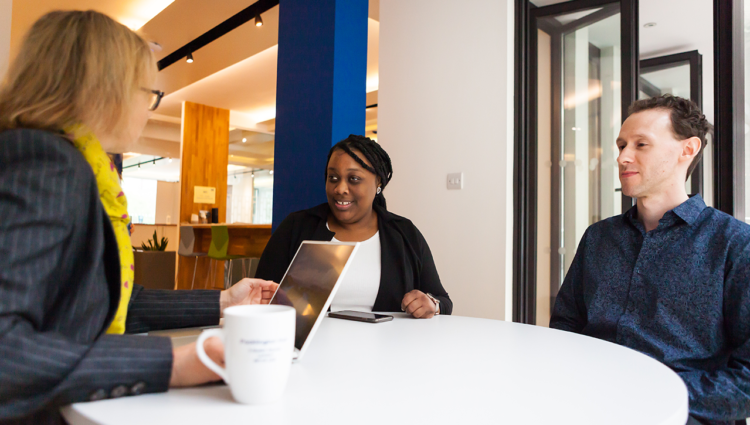
[[[148,43],[124,25],[91,10],[50,12],[26,34],[0,86],[0,131],[85,123],[128,137],[135,94],[155,78]]]

